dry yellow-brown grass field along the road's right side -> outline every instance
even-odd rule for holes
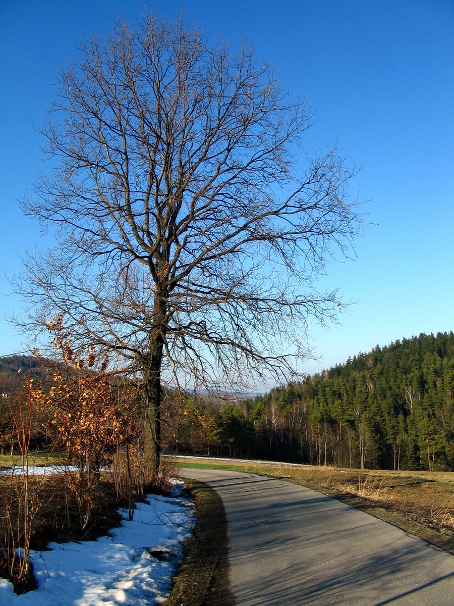
[[[454,554],[454,472],[350,470],[312,465],[172,458],[174,465],[236,469],[334,496]]]

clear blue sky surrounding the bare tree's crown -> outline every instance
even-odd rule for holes
[[[421,332],[454,330],[453,0],[0,0],[0,314],[20,313],[8,282],[40,246],[18,199],[41,170],[39,136],[59,65],[83,36],[143,10],[197,22],[209,37],[245,39],[283,86],[314,110],[309,150],[338,139],[363,169],[367,200],[357,259],[323,279],[354,305],[341,326],[312,327],[318,371]],[[354,192],[355,193],[355,192]],[[0,320],[0,355],[21,351]]]

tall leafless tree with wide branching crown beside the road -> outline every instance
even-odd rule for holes
[[[146,16],[81,45],[42,129],[53,169],[24,201],[56,245],[26,260],[31,321],[140,370],[158,464],[162,384],[282,378],[308,356],[326,259],[360,228],[336,148],[301,150],[310,118],[269,65]]]

